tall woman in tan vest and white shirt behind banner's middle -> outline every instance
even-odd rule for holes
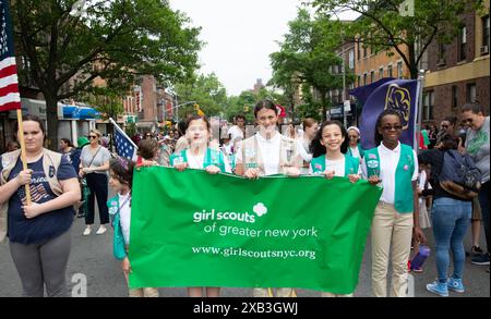
[[[238,145],[236,174],[248,179],[285,174],[298,176],[302,165],[298,143],[276,131],[278,108],[271,100],[262,100],[254,108],[259,132]],[[271,289],[254,289],[254,297],[273,296]],[[277,289],[277,297],[296,296],[290,287]]]

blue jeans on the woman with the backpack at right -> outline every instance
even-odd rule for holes
[[[466,253],[464,236],[470,224],[472,207],[470,201],[448,197],[436,198],[433,201],[433,235],[436,246],[436,271],[439,281],[446,282],[450,263],[448,249],[454,258],[453,278],[462,279]]]

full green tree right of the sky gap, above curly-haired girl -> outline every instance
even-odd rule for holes
[[[321,99],[323,119],[328,107],[327,93],[343,87],[343,77],[333,72],[343,63],[335,52],[343,44],[340,28],[342,24],[330,16],[312,19],[306,9],[299,9],[280,50],[270,56],[276,85],[284,88],[290,101],[297,84],[313,87]],[[352,79],[352,75],[348,76],[347,83]]]

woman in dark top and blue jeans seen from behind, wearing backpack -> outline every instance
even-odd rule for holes
[[[428,284],[427,290],[441,296],[448,296],[448,290],[464,292],[462,283],[465,262],[463,241],[470,224],[471,201],[448,194],[438,182],[445,151],[457,149],[457,146],[458,138],[445,134],[438,148],[423,151],[418,156],[421,164],[431,164],[434,189],[431,220],[436,246],[438,280]],[[447,279],[448,249],[452,249],[453,254],[454,273]]]

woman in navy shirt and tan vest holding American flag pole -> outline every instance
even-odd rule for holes
[[[0,241],[8,231],[24,296],[43,297],[45,285],[48,296],[68,296],[72,206],[80,200],[76,173],[61,154],[43,148],[39,118],[26,115],[23,124],[27,169],[19,150],[0,158]],[[29,186],[31,203],[24,185]]]

